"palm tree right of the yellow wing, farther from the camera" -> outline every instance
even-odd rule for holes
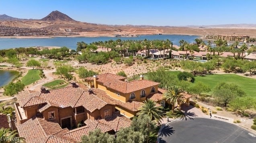
[[[181,90],[179,87],[171,87],[168,91],[164,93],[164,99],[169,100],[172,104],[172,111],[174,111],[174,106],[176,102],[179,104],[181,102],[184,102],[184,96],[180,95]]]

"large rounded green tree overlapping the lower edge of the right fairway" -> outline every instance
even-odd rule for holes
[[[213,89],[213,96],[217,103],[227,106],[236,97],[244,97],[246,93],[236,84],[220,82]]]

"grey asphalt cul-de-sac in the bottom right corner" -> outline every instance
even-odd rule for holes
[[[163,127],[160,143],[256,143],[256,137],[238,125],[207,118],[178,119]]]

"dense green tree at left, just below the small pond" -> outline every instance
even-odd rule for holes
[[[4,87],[4,95],[14,96],[18,92],[23,91],[24,87],[25,85],[21,83],[21,81],[18,81],[16,83],[11,82]]]

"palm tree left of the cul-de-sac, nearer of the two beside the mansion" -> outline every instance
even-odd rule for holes
[[[161,120],[164,115],[162,109],[163,109],[162,106],[157,106],[153,100],[149,99],[149,100],[143,101],[142,106],[139,107],[140,111],[137,113],[137,115],[145,114],[145,115],[148,115],[151,120],[153,119]]]

